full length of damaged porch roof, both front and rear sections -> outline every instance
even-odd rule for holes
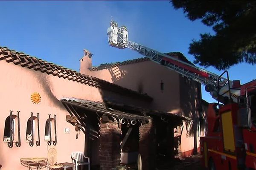
[[[150,110],[146,108],[140,108],[131,105],[120,104],[111,101],[94,102],[85,99],[68,98],[63,97],[61,102],[64,105],[73,105],[78,108],[82,108],[88,111],[93,111],[105,116],[111,116],[119,120],[137,120],[139,122],[146,123],[149,119],[154,116],[159,117],[163,122],[170,122],[172,125],[180,125],[182,121],[191,122],[192,119],[186,116],[180,116],[175,113],[166,113],[162,111]]]

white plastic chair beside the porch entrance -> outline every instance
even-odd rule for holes
[[[83,152],[72,152],[71,159],[73,161],[73,164],[76,164],[76,170],[78,170],[79,165],[88,165],[88,170],[90,170],[90,158],[84,156]]]

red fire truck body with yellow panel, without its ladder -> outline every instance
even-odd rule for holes
[[[201,137],[202,165],[209,170],[256,170],[256,80],[241,85],[238,103],[212,103]]]

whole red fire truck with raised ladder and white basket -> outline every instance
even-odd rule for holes
[[[207,135],[201,137],[202,166],[209,170],[256,170],[256,80],[243,85],[175,57],[128,40],[125,26],[111,21],[109,45],[130,48],[178,74],[201,83],[218,101],[207,111]],[[226,75],[224,77],[224,75]]]

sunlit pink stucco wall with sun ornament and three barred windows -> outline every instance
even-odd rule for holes
[[[38,105],[30,101],[30,95],[38,92],[41,95],[41,102]],[[20,164],[20,158],[47,157],[47,150],[55,147],[58,152],[58,163],[71,162],[70,153],[73,151],[84,151],[84,134],[81,132],[76,139],[75,128],[65,121],[69,113],[61,104],[61,97],[76,97],[93,101],[102,101],[99,89],[67,79],[54,77],[40,71],[23,68],[20,65],[0,61],[0,164],[1,170],[25,170],[27,168]],[[3,131],[5,119],[10,114],[17,115],[20,111],[20,135],[21,147],[12,148],[3,142]],[[41,145],[33,147],[26,142],[26,123],[34,112],[39,112]],[[45,122],[48,114],[56,114],[57,145],[48,146],[44,142]],[[64,128],[70,128],[71,133],[64,133]],[[53,134],[53,133],[52,133]],[[16,134],[17,139],[17,134]]]

